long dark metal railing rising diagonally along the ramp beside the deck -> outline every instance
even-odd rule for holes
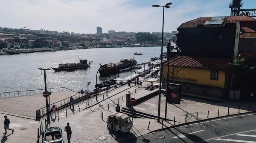
[[[126,83],[122,83],[121,85],[118,85],[116,87],[114,86],[111,86],[111,87],[108,87],[108,93],[109,92],[112,92],[113,90],[115,89],[118,89],[119,87],[125,85]],[[73,97],[74,98],[74,106],[80,102],[91,102],[91,100],[95,99],[96,97],[96,94],[98,94],[98,97],[102,96],[103,94],[105,94],[107,92],[107,89],[101,89],[97,92],[90,92],[88,94],[81,94],[81,93],[77,93],[73,96],[70,96],[70,97]],[[62,112],[64,111],[64,109],[68,108],[70,106],[70,97],[67,97],[63,100],[60,100],[58,102],[55,102],[55,103],[52,103],[50,104],[50,108],[52,108],[53,105],[55,105],[55,111],[57,112]],[[41,113],[41,117],[40,118],[43,118],[47,115],[47,107],[44,106],[43,108],[41,109],[38,109],[36,110],[36,112],[40,112]],[[38,117],[37,117],[38,118]]]

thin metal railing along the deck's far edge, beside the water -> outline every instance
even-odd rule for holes
[[[57,87],[57,88],[50,88],[47,89],[49,92],[55,93],[55,92],[64,92],[64,91],[71,91],[74,92],[71,89],[68,89],[66,87]],[[28,95],[38,95],[42,94],[45,91],[45,89],[33,89],[33,90],[23,90],[23,91],[15,91],[15,92],[1,92],[0,98],[9,98],[9,97],[19,97],[19,96],[28,96]]]

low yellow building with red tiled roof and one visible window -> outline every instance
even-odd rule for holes
[[[228,98],[230,59],[178,56],[163,63],[163,88],[169,83],[182,85],[182,94],[217,99]]]

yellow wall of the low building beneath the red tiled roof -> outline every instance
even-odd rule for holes
[[[171,72],[172,71],[172,72]],[[178,72],[177,72],[178,71]],[[169,68],[169,81],[172,77],[176,77],[175,80],[186,83],[195,83],[207,86],[217,86],[224,87],[225,85],[225,71],[218,71],[218,80],[211,80],[211,70],[210,69],[196,69],[187,67],[173,67]],[[177,76],[172,76],[170,73],[177,73]],[[163,66],[163,79],[166,79],[167,75],[167,65]],[[172,77],[170,77],[172,76]]]

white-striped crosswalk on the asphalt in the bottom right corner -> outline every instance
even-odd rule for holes
[[[218,140],[218,141],[217,141]],[[234,143],[256,143],[256,131],[246,134],[234,134],[227,137],[215,139],[216,143],[234,142]]]

